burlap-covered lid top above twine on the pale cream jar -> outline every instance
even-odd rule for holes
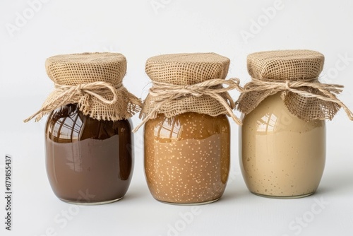
[[[257,79],[290,80],[317,78],[324,56],[312,50],[277,50],[249,54],[248,72]]]

